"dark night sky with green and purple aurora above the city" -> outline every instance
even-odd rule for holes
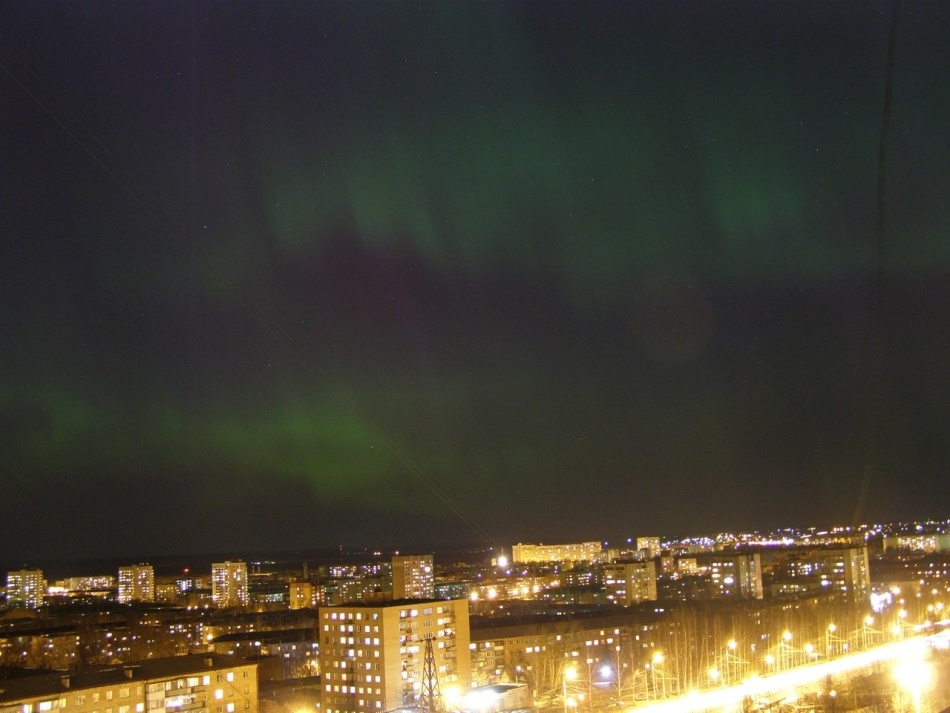
[[[4,3],[0,559],[947,517],[892,9]]]

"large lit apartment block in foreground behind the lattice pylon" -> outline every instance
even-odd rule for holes
[[[471,678],[468,601],[402,600],[320,607],[325,713],[380,713],[418,704],[426,639],[443,695]]]

